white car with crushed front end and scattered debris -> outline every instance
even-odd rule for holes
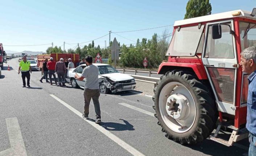
[[[108,64],[93,63],[93,65],[99,68],[99,90],[100,93],[106,94],[108,92],[116,93],[124,90],[135,89],[136,83],[132,76],[127,74],[119,73],[115,68]],[[77,68],[69,69],[67,75],[67,82],[71,83],[73,88],[84,88],[84,80],[79,81],[75,79],[75,73],[78,76],[82,75],[83,68],[86,64],[81,64]]]

